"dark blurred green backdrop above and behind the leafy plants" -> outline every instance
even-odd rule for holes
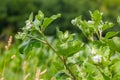
[[[53,34],[55,27],[72,31],[71,19],[79,15],[89,19],[89,11],[96,9],[104,13],[105,19],[116,22],[120,15],[120,0],[0,0],[0,39],[23,27],[31,12],[36,14],[42,10],[47,16],[61,13],[62,17],[46,31]]]

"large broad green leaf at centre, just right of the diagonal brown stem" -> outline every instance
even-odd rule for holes
[[[83,43],[79,40],[69,41],[58,46],[57,52],[60,55],[69,57],[82,49]]]

